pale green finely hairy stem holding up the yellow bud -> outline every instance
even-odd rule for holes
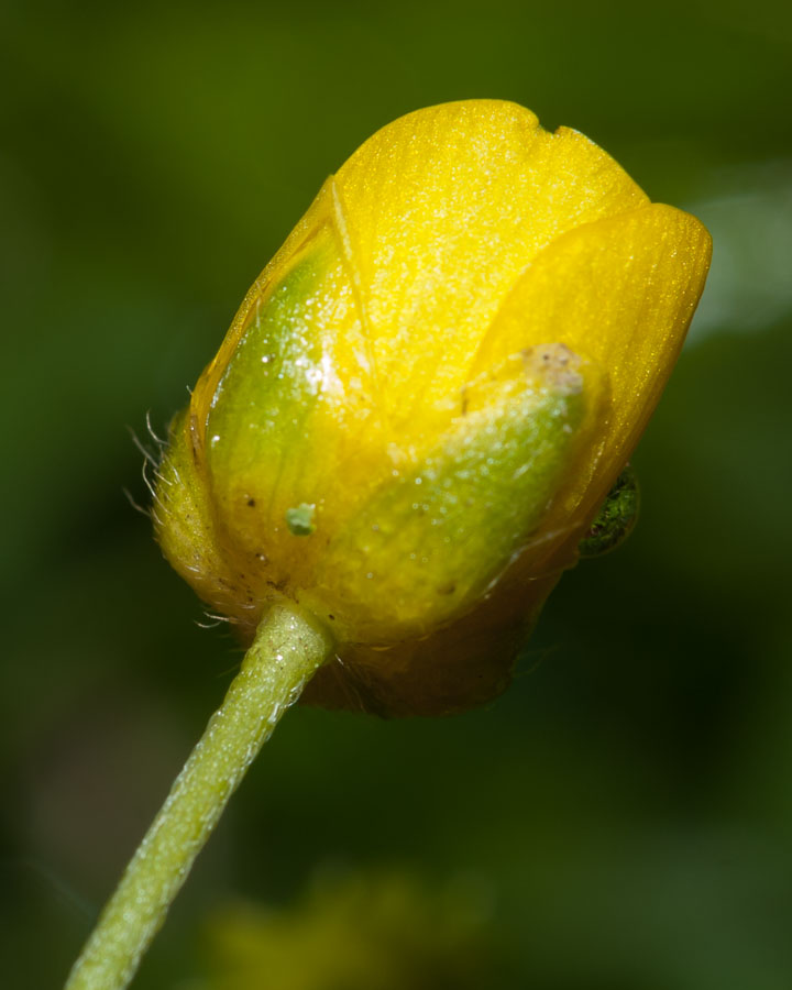
[[[66,990],[129,985],[229,798],[332,646],[296,607],[278,604],[267,613],[226,700],[105,906]]]

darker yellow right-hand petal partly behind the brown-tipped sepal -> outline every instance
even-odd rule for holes
[[[600,443],[557,501],[584,524],[646,427],[704,288],[712,242],[689,213],[651,205],[558,238],[503,302],[471,373],[557,340],[609,380]],[[550,525],[550,524],[549,524]]]

